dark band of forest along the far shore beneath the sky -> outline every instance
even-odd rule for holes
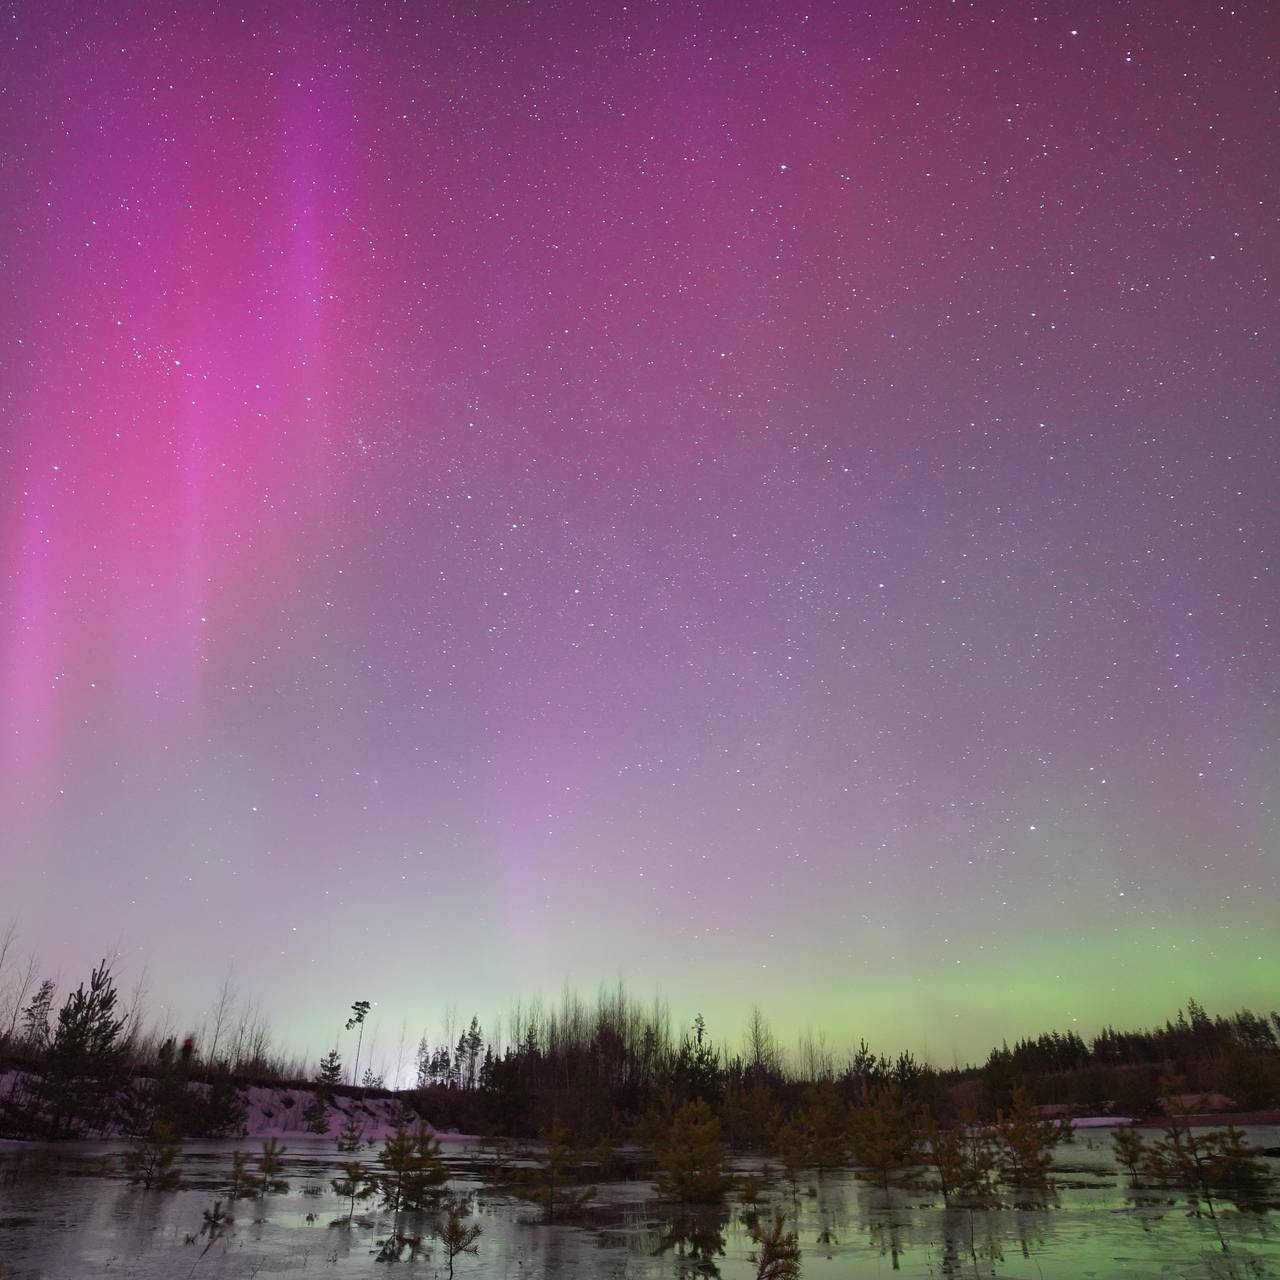
[[[1201,1111],[1280,1106],[1280,1014],[1211,1015],[1196,1000],[1160,1025],[1106,1027],[1089,1039],[1046,1030],[993,1047],[982,1064],[940,1068],[865,1042],[844,1056],[815,1037],[787,1050],[758,1007],[740,1034],[717,1038],[700,1015],[673,1027],[660,1000],[620,984],[594,1000],[567,989],[556,1005],[516,1005],[500,1037],[472,1016],[434,1041],[421,1036],[412,1052],[402,1038],[375,1066],[367,1000],[340,1011],[338,1042],[307,1062],[276,1044],[229,982],[212,1015],[179,1037],[147,1024],[145,991],[122,992],[108,961],[61,998],[32,963],[10,969],[0,1005],[0,1134],[9,1137],[141,1132],[157,1108],[182,1132],[229,1134],[255,1084],[396,1098],[442,1132],[531,1138],[558,1125],[579,1143],[614,1146],[653,1146],[699,1103],[730,1149],[776,1153],[823,1128],[840,1129],[837,1147],[847,1146],[874,1105],[942,1130],[995,1123],[1015,1102],[1059,1119],[1142,1119],[1171,1098],[1202,1100]]]

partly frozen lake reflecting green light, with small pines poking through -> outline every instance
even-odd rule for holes
[[[1247,1130],[1256,1146],[1280,1144],[1280,1128]],[[342,1156],[328,1139],[287,1143],[287,1194],[230,1206],[234,1224],[212,1243],[201,1235],[202,1213],[221,1192],[236,1146],[244,1139],[191,1143],[182,1156],[187,1187],[145,1192],[119,1171],[101,1171],[101,1157],[119,1144],[56,1148],[0,1146],[0,1280],[79,1280],[122,1276],[136,1280],[255,1276],[445,1275],[438,1244],[416,1262],[379,1262],[375,1252],[392,1230],[392,1215],[358,1207],[348,1229],[347,1203],[329,1187],[343,1161],[376,1161],[376,1148]],[[486,1156],[449,1144],[456,1194],[472,1194],[484,1234],[476,1257],[461,1257],[460,1277],[497,1280],[517,1276],[648,1277],[755,1275],[748,1261],[751,1240],[742,1206],[731,1194],[724,1210],[692,1211],[682,1219],[657,1202],[648,1183],[599,1187],[586,1217],[572,1225],[545,1225],[538,1210],[481,1190]],[[47,1156],[47,1169],[15,1178],[19,1161]],[[1270,1160],[1274,1174],[1280,1161]],[[29,1165],[28,1165],[29,1169]],[[755,1171],[759,1161],[735,1161]],[[799,1222],[808,1276],[1027,1276],[1079,1277],[1280,1276],[1280,1187],[1251,1208],[1221,1203],[1215,1228],[1188,1213],[1185,1201],[1169,1193],[1130,1190],[1111,1158],[1107,1129],[1082,1132],[1059,1148],[1055,1190],[1043,1204],[998,1208],[947,1208],[929,1189],[868,1187],[850,1172],[806,1178],[792,1197],[781,1178],[759,1202],[767,1219],[777,1204]],[[402,1229],[425,1228],[410,1216]],[[195,1242],[191,1238],[195,1236]]]

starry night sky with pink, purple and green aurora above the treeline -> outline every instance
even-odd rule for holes
[[[297,1046],[1274,1007],[1272,6],[3,18],[45,970]]]

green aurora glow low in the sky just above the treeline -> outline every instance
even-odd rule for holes
[[[605,982],[612,987],[614,982]],[[374,992],[379,983],[369,983]],[[398,984],[397,984],[398,986]],[[637,984],[626,984],[641,1002],[653,997]],[[596,984],[580,984],[577,995],[594,1002]],[[792,1053],[801,1036],[820,1038],[837,1069],[850,1048],[867,1039],[876,1052],[896,1055],[910,1050],[936,1066],[974,1064],[1002,1041],[1047,1030],[1075,1030],[1085,1041],[1106,1025],[1139,1029],[1176,1016],[1188,998],[1203,1004],[1211,1015],[1242,1007],[1270,1014],[1275,1002],[1275,966],[1256,941],[1230,928],[1202,929],[1169,925],[1125,936],[1114,929],[1093,936],[1057,937],[1032,946],[979,954],[943,973],[902,968],[874,979],[841,980],[838,974],[780,1000],[777,988],[762,984],[755,993],[744,982],[741,996],[676,991],[657,995],[666,1002],[675,1029],[701,1012],[716,1043],[730,1052],[741,1044],[742,1027],[758,1004],[780,1046]],[[492,1009],[457,1009],[460,1023],[476,1012],[486,1030],[494,1019],[506,1025],[512,1002],[526,1006],[539,998],[534,991],[495,1002]],[[544,988],[544,1009],[559,1004],[561,989]],[[424,1016],[425,1014],[425,1016]],[[337,1012],[333,1015],[337,1020]],[[394,1057],[401,1023],[411,1048],[424,1027],[429,1038],[440,1037],[439,1007],[421,1010],[408,991],[385,991],[371,1019],[375,1056]],[[325,1046],[332,1032],[319,1032],[301,1019],[280,1024],[291,1046]],[[456,1034],[456,1033],[454,1033]]]

